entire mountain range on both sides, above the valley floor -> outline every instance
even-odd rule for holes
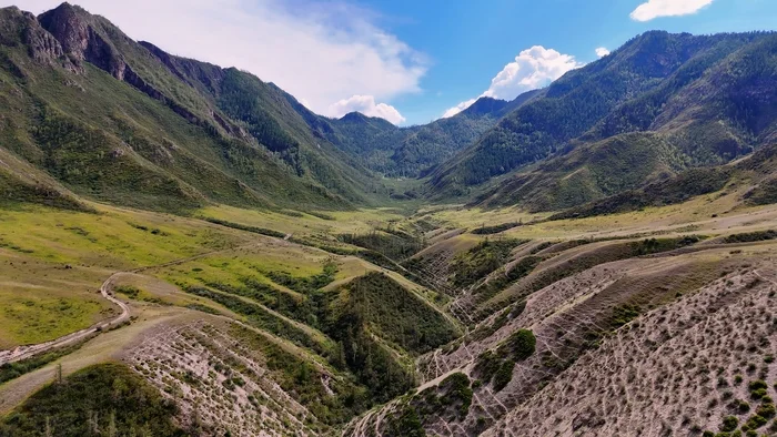
[[[317,115],[238,69],[135,42],[63,3],[0,10],[0,189],[79,207],[433,201],[558,211],[720,165],[777,140],[777,34],[647,32],[543,90],[397,128]],[[492,186],[496,176],[498,186]]]

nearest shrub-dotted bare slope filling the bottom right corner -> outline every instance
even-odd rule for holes
[[[485,435],[698,435],[717,433],[726,416],[745,423],[759,403],[749,383],[765,380],[776,395],[774,275],[774,265],[736,272],[650,312]]]

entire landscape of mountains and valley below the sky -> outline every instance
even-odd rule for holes
[[[777,435],[777,34],[397,128],[0,9],[0,436]]]

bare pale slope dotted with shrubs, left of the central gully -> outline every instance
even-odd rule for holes
[[[188,428],[240,436],[311,436],[314,419],[220,324],[164,326],[125,360],[181,408]],[[322,382],[324,384],[324,382]]]

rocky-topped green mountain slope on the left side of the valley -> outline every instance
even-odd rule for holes
[[[0,20],[3,148],[78,194],[186,211],[347,207],[381,190],[248,73],[173,59],[68,3]]]

